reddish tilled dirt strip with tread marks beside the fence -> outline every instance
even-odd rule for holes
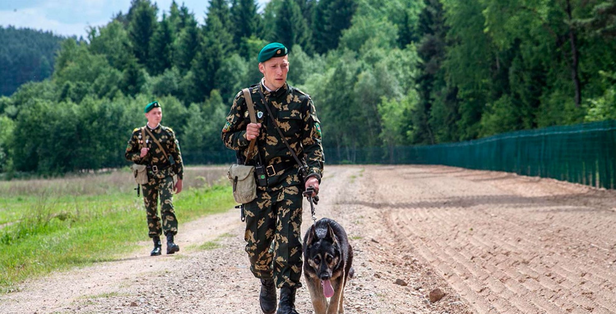
[[[368,174],[390,182],[375,199],[392,209],[389,227],[477,313],[616,312],[613,198],[554,180],[456,169]],[[562,185],[567,193],[554,187]]]

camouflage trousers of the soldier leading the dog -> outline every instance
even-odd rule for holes
[[[302,193],[299,187],[276,191],[259,187],[257,198],[244,204],[244,211],[244,240],[254,276],[274,278],[278,288],[301,287]]]

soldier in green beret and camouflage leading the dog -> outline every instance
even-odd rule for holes
[[[277,42],[265,46],[259,53],[259,71],[264,78],[249,87],[257,123],[250,122],[243,92],[239,92],[222,129],[225,146],[238,151],[238,163],[245,161],[249,142],[256,138],[258,155],[250,163],[266,166],[267,186],[257,187],[257,198],[244,204],[243,210],[250,269],[261,280],[259,302],[268,314],[276,310],[276,286],[280,288],[277,313],[297,314],[294,302],[296,289],[301,286],[302,191],[313,187],[318,192],[323,172],[321,129],[314,104],[309,95],[286,83],[288,70],[286,47]],[[296,155],[306,159],[306,182],[301,180],[298,163],[274,123]]]

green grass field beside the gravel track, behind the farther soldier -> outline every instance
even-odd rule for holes
[[[2,182],[0,293],[16,291],[26,278],[117,259],[138,241],[148,240],[142,198],[126,179],[113,185],[116,179],[105,175],[86,181],[54,179],[47,180],[47,187],[36,180],[38,188],[13,191],[12,182]],[[227,211],[235,204],[227,183],[208,185],[212,183],[185,185],[174,196],[180,223]]]

